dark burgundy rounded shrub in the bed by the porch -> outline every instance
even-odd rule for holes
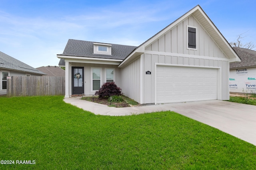
[[[95,95],[99,98],[108,98],[110,96],[119,96],[122,94],[122,89],[116,86],[115,82],[106,82],[102,87],[95,92]]]

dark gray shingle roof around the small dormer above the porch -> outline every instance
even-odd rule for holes
[[[125,59],[136,47],[129,45],[112,44],[112,55],[98,55],[94,53],[94,42],[69,39],[61,55],[76,57],[92,57],[102,59]]]

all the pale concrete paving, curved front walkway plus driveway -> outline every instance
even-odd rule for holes
[[[65,98],[64,101],[99,115],[124,116],[175,111],[256,145],[256,106],[252,105],[210,100],[116,108],[80,100],[80,98]]]

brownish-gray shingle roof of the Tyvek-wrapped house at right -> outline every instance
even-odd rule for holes
[[[240,57],[241,62],[230,63],[230,68],[256,66],[256,51],[239,47],[233,47],[233,49]]]

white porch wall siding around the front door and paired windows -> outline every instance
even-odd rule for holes
[[[92,63],[71,63],[69,68],[69,75],[72,74],[72,66],[84,67],[84,95],[94,95],[92,91],[92,68],[101,68],[101,86],[105,83],[106,72],[105,68],[114,68],[114,81],[118,87],[121,87],[121,73],[117,65],[109,64],[92,64]],[[71,77],[71,76],[70,76]],[[72,80],[69,81],[69,95],[72,94]]]

